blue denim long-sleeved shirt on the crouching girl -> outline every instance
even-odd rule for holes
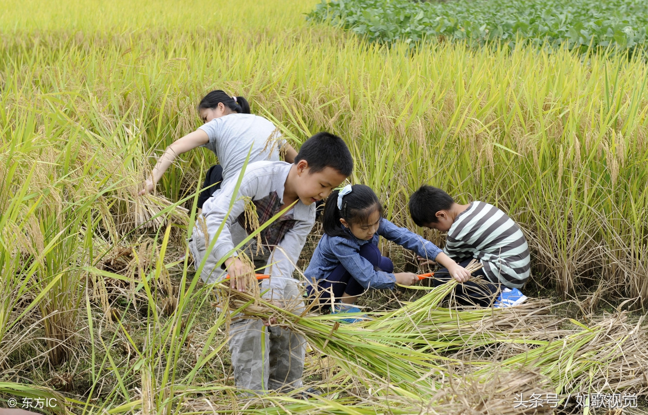
[[[378,232],[368,241],[359,240],[346,228],[345,231],[348,237],[325,234],[319,240],[310,264],[304,271],[308,284],[317,285],[318,280],[326,278],[341,264],[365,289],[393,289],[396,277],[391,273],[376,271],[369,261],[360,256],[360,247],[365,243],[378,245],[378,236],[398,243],[430,260],[437,258],[441,252],[434,243],[409,229],[397,227],[385,218],[380,219]]]

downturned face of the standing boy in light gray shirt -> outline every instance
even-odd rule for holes
[[[346,178],[347,176],[332,167],[325,167],[321,172],[311,173],[308,163],[301,160],[297,163],[295,192],[301,203],[310,205],[328,197]]]

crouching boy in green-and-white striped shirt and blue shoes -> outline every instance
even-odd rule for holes
[[[443,251],[466,267],[474,258],[483,268],[473,280],[457,286],[463,304],[516,306],[527,299],[520,288],[529,278],[529,246],[522,230],[502,210],[480,201],[459,205],[446,192],[421,186],[410,197],[410,214],[421,227],[448,232]],[[421,264],[429,264],[419,258]],[[434,273],[434,284],[450,279],[446,269]]]

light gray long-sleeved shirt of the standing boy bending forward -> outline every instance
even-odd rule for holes
[[[221,258],[231,256],[235,246],[246,235],[246,232],[241,232],[242,227],[237,223],[238,216],[244,212],[246,207],[246,200],[257,201],[276,192],[279,199],[283,201],[284,185],[291,166],[292,164],[283,161],[258,161],[248,164],[235,197],[233,194],[237,180],[232,179],[218,192],[218,197],[211,197],[205,201],[202,214],[209,232],[209,241],[224,223],[214,247],[209,253],[213,257],[211,258],[212,263],[215,264]],[[272,249],[264,272],[270,275],[270,278],[262,282],[262,289],[270,288],[270,297],[283,298],[285,278],[292,279],[299,254],[315,223],[315,205],[307,206],[301,201],[297,201],[292,209],[292,219],[294,219],[294,226]],[[219,271],[214,270],[214,272]],[[268,296],[266,295],[266,297]]]

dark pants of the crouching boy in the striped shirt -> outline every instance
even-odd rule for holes
[[[470,261],[472,261],[472,258],[459,262],[459,265],[465,268],[470,264]],[[500,284],[492,283],[483,269],[475,271],[472,275],[481,276],[480,282],[469,281],[457,284],[454,291],[457,302],[462,306],[490,307],[500,294]],[[441,268],[439,271],[434,272],[432,285],[438,287],[451,279],[452,276],[448,273],[448,269]]]

